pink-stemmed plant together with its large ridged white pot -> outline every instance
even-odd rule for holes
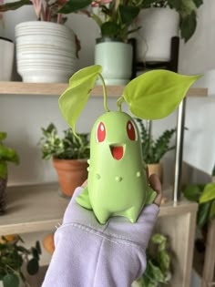
[[[23,81],[67,82],[76,71],[79,43],[75,33],[64,25],[66,17],[58,13],[64,3],[19,0],[0,5],[0,12],[22,5],[33,5],[36,12],[37,21],[15,26],[17,71]],[[72,4],[75,11],[83,5],[74,0]]]

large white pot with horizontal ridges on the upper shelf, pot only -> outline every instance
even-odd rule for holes
[[[15,43],[24,82],[67,82],[77,70],[76,36],[67,26],[24,22],[15,26]]]

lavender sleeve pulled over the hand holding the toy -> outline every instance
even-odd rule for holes
[[[146,248],[159,207],[144,208],[131,224],[123,217],[100,225],[80,207],[77,188],[55,233],[56,250],[42,287],[130,287],[146,269]]]

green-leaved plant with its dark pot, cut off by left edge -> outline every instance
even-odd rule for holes
[[[5,190],[7,183],[7,162],[19,163],[15,149],[10,149],[3,144],[7,134],[0,131],[0,214],[5,211]]]

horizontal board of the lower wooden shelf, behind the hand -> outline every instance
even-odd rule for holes
[[[58,195],[58,184],[37,184],[7,188],[7,209],[0,217],[0,235],[50,231],[62,221],[68,199]],[[196,203],[179,201],[161,206],[159,216],[174,216],[197,210]]]

